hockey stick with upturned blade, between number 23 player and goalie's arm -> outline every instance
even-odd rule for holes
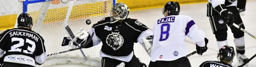
[[[74,51],[74,50],[79,50],[79,49],[85,48],[91,42],[93,36],[94,36],[94,32],[92,33],[92,36],[87,40],[87,42],[85,42],[85,44],[81,45],[79,48],[63,50],[63,51],[55,52],[55,53],[52,53],[52,54],[48,54],[47,56],[51,56],[51,55],[55,55],[55,54],[61,54],[61,53],[64,53],[64,52],[70,52],[70,51]]]

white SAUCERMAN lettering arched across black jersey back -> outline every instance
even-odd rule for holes
[[[36,40],[36,42],[38,42],[38,37],[36,35],[30,34],[30,33],[26,33],[26,32],[21,32],[21,31],[12,31],[9,33],[12,36],[28,36],[34,40]]]

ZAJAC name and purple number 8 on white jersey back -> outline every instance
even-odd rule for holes
[[[158,20],[158,24],[161,24],[161,32],[159,41],[164,41],[169,38],[170,23],[175,21],[175,17],[165,17]]]

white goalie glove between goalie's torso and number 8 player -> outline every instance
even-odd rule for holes
[[[142,46],[143,48],[147,51],[147,54],[150,56],[150,53],[152,51],[152,47],[153,47],[153,36],[148,36],[146,38],[142,38]]]

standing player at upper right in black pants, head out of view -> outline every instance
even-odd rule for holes
[[[236,46],[236,57],[239,65],[249,60],[245,56],[244,32],[233,26],[233,23],[245,29],[243,21],[237,10],[237,0],[208,0],[207,17],[210,19],[211,28],[217,40],[218,48],[228,45],[227,30],[230,27]],[[227,25],[226,25],[227,24]],[[247,67],[248,65],[245,65]]]

